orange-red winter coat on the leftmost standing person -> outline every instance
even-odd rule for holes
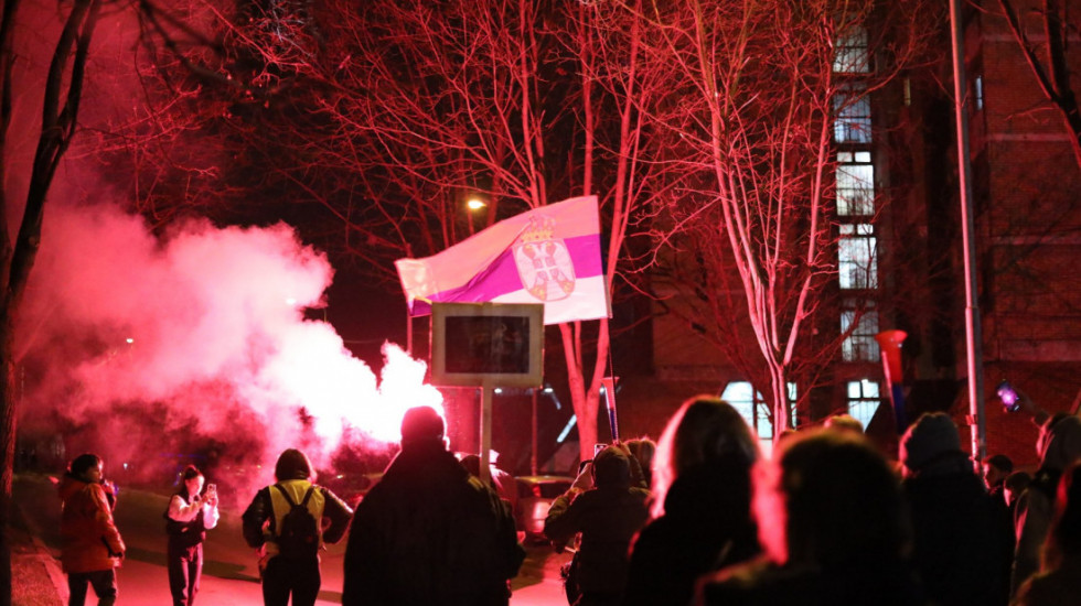
[[[113,522],[113,509],[98,483],[65,475],[60,483],[61,563],[66,573],[108,571],[120,565],[124,540]]]

